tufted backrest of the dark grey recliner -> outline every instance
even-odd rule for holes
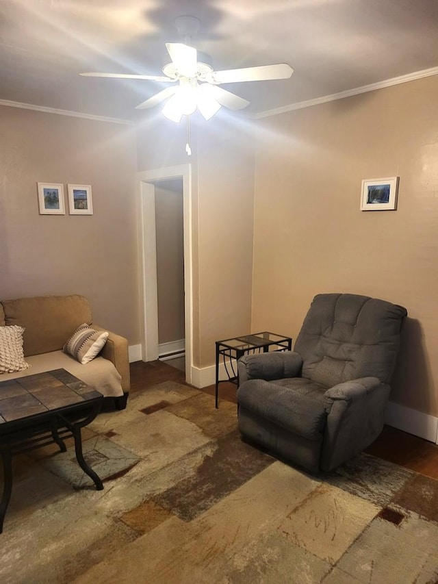
[[[377,377],[389,383],[407,310],[358,294],[318,294],[309,308],[294,351],[302,377],[333,387]]]

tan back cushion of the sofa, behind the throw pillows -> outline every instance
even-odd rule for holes
[[[92,323],[90,305],[78,294],[21,298],[2,304],[5,324],[25,329],[25,357],[59,351],[79,325]]]

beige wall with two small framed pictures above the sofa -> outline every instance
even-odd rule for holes
[[[0,161],[0,298],[83,294],[140,342],[133,129],[0,106]],[[38,213],[37,181],[64,184],[65,215]],[[92,186],[92,216],[68,214],[67,183]]]

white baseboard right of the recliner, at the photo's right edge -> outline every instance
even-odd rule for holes
[[[398,430],[409,432],[438,444],[438,418],[422,411],[389,402],[385,422]]]

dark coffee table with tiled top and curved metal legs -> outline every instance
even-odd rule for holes
[[[4,485],[0,502],[0,533],[12,493],[12,455],[57,444],[73,436],[79,466],[98,491],[101,479],[83,459],[81,428],[101,409],[103,395],[65,369],[55,369],[0,382],[0,454]]]

